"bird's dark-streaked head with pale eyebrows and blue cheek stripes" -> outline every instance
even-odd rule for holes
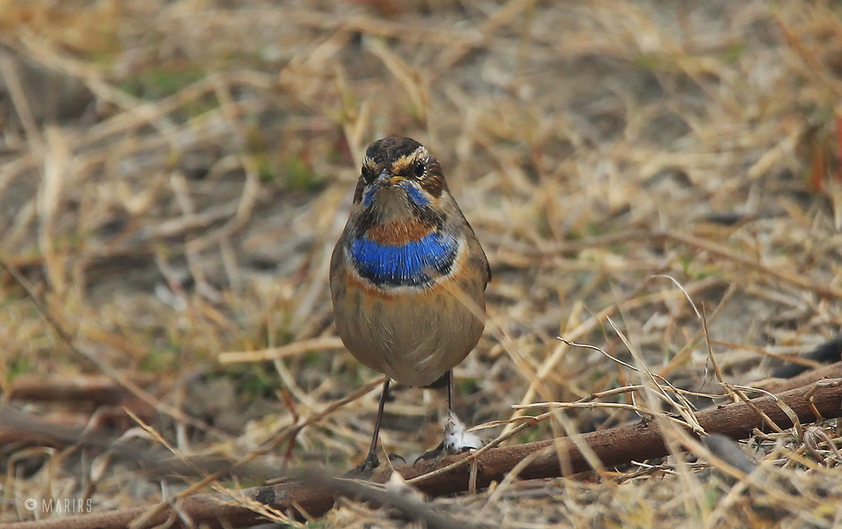
[[[365,150],[354,204],[381,221],[418,217],[439,207],[447,192],[441,166],[411,138],[383,138]]]

